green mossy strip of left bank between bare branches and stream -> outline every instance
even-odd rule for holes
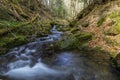
[[[49,22],[26,23],[0,20],[0,54],[8,49],[22,45],[36,37],[48,35],[51,25]]]

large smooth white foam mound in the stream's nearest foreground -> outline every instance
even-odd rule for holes
[[[68,73],[51,69],[43,63],[37,63],[34,67],[12,69],[4,75],[10,80],[67,80],[65,74]]]

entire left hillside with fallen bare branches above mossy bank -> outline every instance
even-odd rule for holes
[[[0,54],[49,34],[53,17],[39,0],[0,1]]]

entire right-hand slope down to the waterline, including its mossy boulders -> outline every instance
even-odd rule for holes
[[[78,50],[101,65],[120,70],[120,1],[91,4],[70,22],[61,42],[62,50]]]

